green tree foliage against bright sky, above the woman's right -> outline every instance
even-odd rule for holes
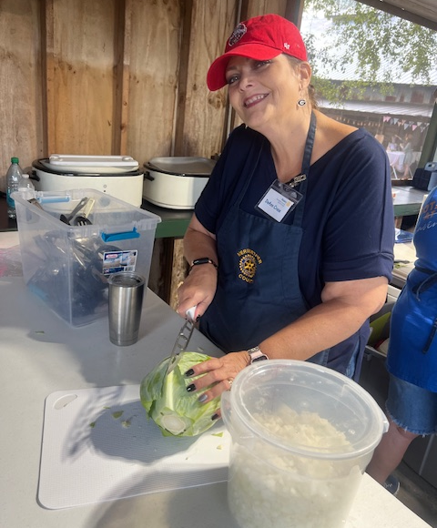
[[[359,96],[364,86],[390,93],[392,72],[410,74],[415,84],[430,84],[435,68],[437,34],[432,29],[389,15],[355,0],[305,0],[305,14],[322,13],[331,22],[330,46],[316,50],[320,36],[304,35],[318,92],[330,100]],[[346,71],[356,78],[333,85],[319,75],[320,66]],[[319,65],[319,66],[318,66]]]

